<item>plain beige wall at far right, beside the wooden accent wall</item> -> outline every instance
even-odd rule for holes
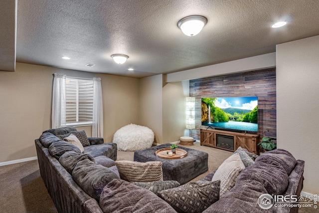
[[[319,36],[277,45],[278,148],[304,160],[304,192],[319,194]]]

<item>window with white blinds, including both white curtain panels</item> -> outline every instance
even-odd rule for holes
[[[92,125],[92,137],[103,137],[101,78],[72,78],[54,73],[51,128],[79,125]]]

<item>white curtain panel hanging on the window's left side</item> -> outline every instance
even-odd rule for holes
[[[52,92],[51,128],[60,128],[66,125],[65,119],[65,75],[54,73]]]

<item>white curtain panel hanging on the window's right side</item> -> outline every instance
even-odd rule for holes
[[[103,103],[101,78],[93,78],[93,125],[92,137],[103,138]]]

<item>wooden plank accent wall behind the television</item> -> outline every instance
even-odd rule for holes
[[[200,140],[201,98],[258,97],[258,134],[276,137],[276,68],[221,75],[189,81],[189,95],[195,97],[195,124],[192,137]]]

